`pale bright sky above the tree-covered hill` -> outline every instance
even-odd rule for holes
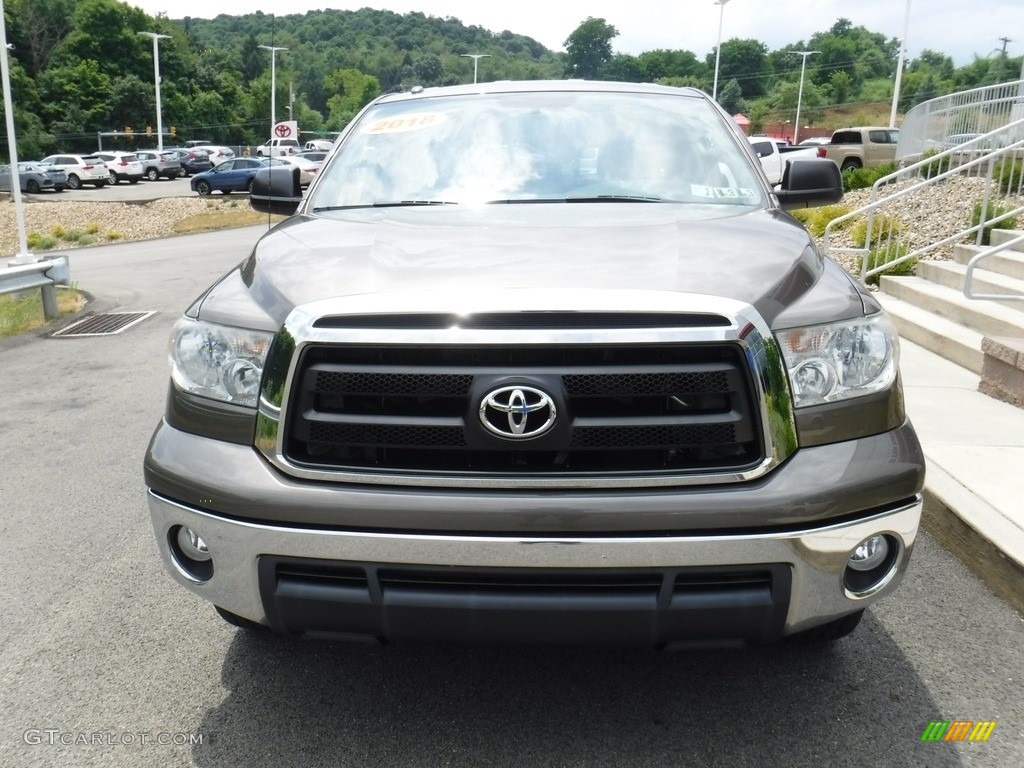
[[[372,7],[396,13],[420,11],[431,16],[455,16],[495,33],[510,30],[531,37],[552,50],[563,43],[588,16],[603,18],[618,31],[612,40],[616,53],[634,55],[656,48],[690,50],[698,57],[712,52],[722,39],[760,40],[769,50],[806,42],[827,31],[836,19],[849,18],[887,38],[902,38],[908,29],[907,57],[922,50],[951,56],[957,67],[975,55],[987,57],[1002,50],[1024,53],[1024,0],[985,0],[980,10],[971,0],[127,0],[150,15],[169,18],[220,13],[242,15],[302,13],[337,8]],[[906,10],[910,9],[909,25]]]

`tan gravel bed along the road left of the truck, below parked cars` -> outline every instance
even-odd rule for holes
[[[54,228],[65,232],[84,232],[90,238],[82,242],[57,237],[52,250],[68,250],[81,245],[102,245],[137,240],[152,240],[175,234],[179,221],[204,213],[248,211],[248,198],[238,200],[204,200],[195,198],[164,198],[144,204],[35,202],[25,208],[25,228],[54,237]],[[31,250],[31,249],[30,249]],[[0,254],[13,256],[18,251],[17,221],[11,199],[0,202]]]

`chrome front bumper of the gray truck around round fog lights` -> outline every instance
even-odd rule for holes
[[[188,507],[153,492],[154,530],[164,564],[182,586],[240,616],[267,624],[260,595],[261,556],[407,566],[628,569],[784,564],[792,592],[783,633],[825,624],[865,607],[902,580],[918,535],[920,498],[852,522],[803,526],[782,532],[702,536],[455,536],[356,532],[243,522]],[[176,526],[198,532],[213,557],[207,581],[189,578],[172,551]],[[899,543],[882,586],[858,596],[844,587],[853,549],[876,534]]]

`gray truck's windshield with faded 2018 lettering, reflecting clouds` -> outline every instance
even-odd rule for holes
[[[369,110],[310,210],[541,201],[760,206],[763,197],[750,158],[703,99],[472,93]]]

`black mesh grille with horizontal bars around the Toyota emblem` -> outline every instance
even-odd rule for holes
[[[717,473],[764,457],[751,375],[732,343],[310,344],[292,382],[284,453],[311,469]],[[530,439],[488,432],[487,394],[520,386],[550,395],[555,426]]]

